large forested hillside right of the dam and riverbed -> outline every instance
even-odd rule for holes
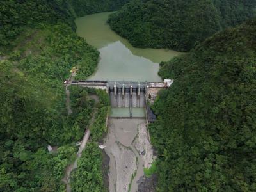
[[[256,191],[256,20],[161,63],[158,191]]]

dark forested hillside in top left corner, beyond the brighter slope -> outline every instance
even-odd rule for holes
[[[4,0],[0,4],[0,55],[15,46],[15,38],[27,26],[38,22],[64,22],[76,29],[74,18],[91,13],[113,11],[127,0]]]

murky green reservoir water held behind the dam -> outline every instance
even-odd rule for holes
[[[160,61],[180,52],[168,49],[140,49],[112,31],[106,23],[111,12],[76,19],[77,35],[100,51],[100,61],[91,80],[161,81],[157,75]]]

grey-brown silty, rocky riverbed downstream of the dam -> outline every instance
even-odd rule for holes
[[[148,168],[155,159],[145,119],[110,119],[105,145],[109,156],[109,191],[138,191],[143,168]]]

